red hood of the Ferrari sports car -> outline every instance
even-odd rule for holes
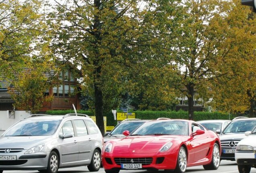
[[[165,143],[173,141],[175,136],[133,136],[117,139],[113,142],[113,153],[157,153]]]

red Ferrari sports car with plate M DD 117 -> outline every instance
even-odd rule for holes
[[[153,120],[138,127],[127,137],[113,139],[103,146],[102,164],[106,173],[121,169],[175,170],[184,173],[187,167],[203,165],[218,169],[220,140],[194,121]]]

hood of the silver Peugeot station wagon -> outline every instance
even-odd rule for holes
[[[0,148],[30,149],[37,145],[51,141],[51,136],[26,136],[26,137],[0,137]]]

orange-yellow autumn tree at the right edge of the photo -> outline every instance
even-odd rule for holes
[[[223,29],[223,45],[228,45],[225,64],[218,69],[227,75],[212,83],[211,106],[220,111],[244,113],[254,117],[256,100],[256,20],[255,13],[233,0],[227,15],[217,27]],[[223,46],[226,47],[227,46]],[[228,66],[228,68],[223,68]]]

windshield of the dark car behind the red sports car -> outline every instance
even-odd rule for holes
[[[137,127],[142,125],[143,121],[130,121],[130,122],[125,122],[125,123],[120,123],[111,133],[110,135],[122,135],[123,131],[128,130],[130,133],[134,131]]]

